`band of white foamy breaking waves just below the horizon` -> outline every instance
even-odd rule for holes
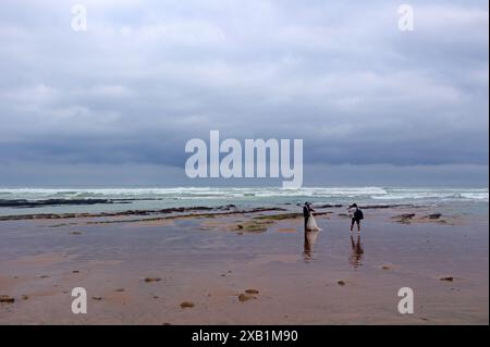
[[[171,188],[0,188],[2,199],[137,198],[137,199],[273,199],[315,198],[357,200],[470,200],[489,201],[488,188],[383,188],[383,187],[171,187]]]

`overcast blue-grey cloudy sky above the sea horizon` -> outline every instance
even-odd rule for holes
[[[306,184],[488,185],[488,29],[487,0],[2,0],[0,186],[198,185],[210,129],[304,139]]]

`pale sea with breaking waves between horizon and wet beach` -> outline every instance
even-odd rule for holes
[[[28,207],[14,203],[19,201],[35,203]],[[70,205],[74,201],[78,205]],[[85,203],[89,201],[95,203]],[[489,190],[488,187],[0,188],[0,215],[94,213],[224,205],[241,208],[295,208],[305,201],[317,205],[422,205],[446,211],[488,215]]]

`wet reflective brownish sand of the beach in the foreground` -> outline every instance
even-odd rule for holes
[[[319,210],[306,235],[279,210],[2,221],[0,324],[489,323],[488,216],[368,209],[359,244],[344,208]]]

